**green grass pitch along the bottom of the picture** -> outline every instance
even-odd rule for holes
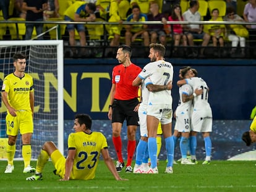
[[[32,162],[35,167],[36,162]],[[103,161],[99,162],[94,180],[60,182],[48,162],[43,180],[26,181],[32,173],[22,173],[23,161],[14,162],[12,173],[4,173],[6,161],[0,161],[0,191],[256,191],[254,161],[211,161],[210,165],[174,165],[174,173],[164,173],[166,162],[160,161],[158,174],[134,174],[122,170],[116,181]]]

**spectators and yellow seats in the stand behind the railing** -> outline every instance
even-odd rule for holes
[[[61,24],[66,57],[113,57],[120,44],[147,56],[150,43],[164,44],[171,57],[254,57],[256,25],[167,24],[179,21],[256,22],[256,0],[4,0],[0,20],[12,20],[0,27],[1,40],[56,39],[48,21],[109,22]],[[15,21],[24,21],[15,25]],[[45,21],[40,23],[25,23]],[[123,22],[161,21],[163,24],[124,25]],[[118,22],[113,25],[111,22]],[[32,25],[33,24],[33,25]],[[35,28],[33,29],[33,27]],[[17,28],[19,29],[17,31]],[[47,31],[42,36],[42,31]],[[140,49],[144,46],[145,49]],[[92,47],[104,48],[95,51]],[[93,51],[92,51],[93,50]]]

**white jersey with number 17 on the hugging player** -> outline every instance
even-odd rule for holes
[[[186,78],[187,84],[192,86],[193,90],[203,89],[203,93],[194,98],[194,108],[195,107],[204,107],[208,104],[208,86],[207,83],[199,77]]]

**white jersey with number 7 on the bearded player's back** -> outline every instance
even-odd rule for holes
[[[153,85],[167,85],[169,81],[173,81],[173,65],[171,63],[160,60],[150,62],[140,72],[139,77],[143,80],[148,77],[149,82]],[[148,98],[148,104],[172,104],[171,90],[151,92]]]

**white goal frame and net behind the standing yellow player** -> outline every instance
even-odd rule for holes
[[[16,52],[27,55],[25,72],[30,74],[34,81],[32,158],[37,158],[45,141],[53,141],[63,153],[63,42],[62,40],[1,41],[1,86],[4,77],[14,72],[12,57]],[[1,100],[0,138],[7,138],[6,111],[6,106]],[[15,159],[17,158],[22,158],[20,135],[16,143]]]

